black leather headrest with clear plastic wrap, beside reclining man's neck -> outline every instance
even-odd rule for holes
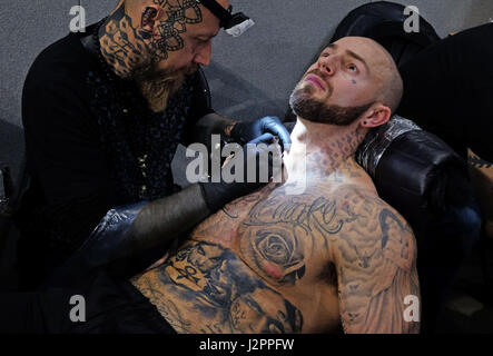
[[[356,160],[381,198],[415,229],[448,206],[465,204],[471,194],[466,162],[442,139],[401,117],[371,131]]]

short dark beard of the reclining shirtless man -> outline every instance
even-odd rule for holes
[[[341,107],[337,105],[327,105],[326,100],[332,95],[332,88],[325,100],[314,98],[315,89],[300,83],[296,86],[295,90],[289,97],[289,106],[293,112],[305,120],[318,123],[349,126],[356,121],[373,102],[357,106],[357,107]]]

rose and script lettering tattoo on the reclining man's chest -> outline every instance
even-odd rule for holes
[[[305,256],[315,243],[324,248],[328,239],[357,216],[337,199],[305,194],[287,197],[283,187],[257,202],[239,227],[241,255],[255,264],[257,273],[272,283],[295,285],[306,273]]]

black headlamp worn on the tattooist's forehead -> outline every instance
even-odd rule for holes
[[[231,13],[231,6],[228,10],[226,10],[218,2],[216,2],[216,0],[196,1],[209,9],[209,11],[220,20],[220,27],[225,29],[226,33],[233,37],[241,36],[255,24],[255,22],[243,12]]]

